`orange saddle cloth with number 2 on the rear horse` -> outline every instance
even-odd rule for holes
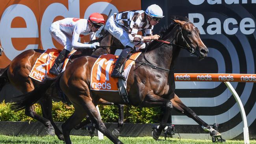
[[[33,78],[37,81],[43,81],[43,79],[45,78],[45,74],[47,74],[50,78],[54,78],[56,75],[50,74],[49,70],[54,64],[55,59],[59,55],[59,52],[61,52],[61,50],[58,50],[56,48],[50,48],[50,49],[47,49],[43,54],[41,54],[35,61],[35,64],[29,74],[30,78]],[[76,50],[72,50],[70,54],[67,56],[67,58],[65,59],[65,61],[63,62],[63,67],[61,72],[65,70],[66,65],[69,61],[69,57],[72,54],[74,54],[74,52],[76,52]]]

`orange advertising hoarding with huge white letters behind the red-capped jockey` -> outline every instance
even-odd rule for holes
[[[0,45],[4,53],[0,56],[0,68],[28,49],[58,48],[63,46],[52,39],[48,29],[52,22],[66,18],[88,18],[98,12],[107,17],[112,13],[141,9],[140,0],[1,0]],[[81,38],[88,42],[89,37]]]

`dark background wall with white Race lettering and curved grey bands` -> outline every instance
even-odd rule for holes
[[[154,34],[171,23],[171,15],[188,17],[200,30],[209,48],[208,57],[198,61],[182,50],[175,73],[255,74],[256,32],[253,0],[141,0],[142,9],[158,4],[165,17],[154,27]],[[250,138],[256,137],[256,85],[232,83],[243,102]],[[208,124],[219,123],[223,137],[243,138],[243,123],[236,100],[224,83],[176,82],[176,94]],[[187,137],[200,133],[190,118],[172,113],[173,124]],[[201,137],[198,135],[198,137]]]

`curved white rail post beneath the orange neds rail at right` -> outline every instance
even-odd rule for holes
[[[245,140],[245,144],[250,144],[249,129],[248,129],[248,126],[247,126],[247,118],[246,118],[246,114],[245,114],[245,109],[243,108],[243,103],[241,102],[236,90],[232,87],[230,82],[226,81],[224,83],[226,84],[226,86],[228,87],[230,92],[232,92],[233,96],[236,99],[236,102],[238,103],[238,107],[240,109],[240,112],[241,112],[241,115],[242,115],[242,120],[243,120],[243,138]]]

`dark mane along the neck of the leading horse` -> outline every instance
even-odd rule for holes
[[[173,19],[173,20],[172,20],[171,24],[169,24],[169,26],[161,28],[161,30],[158,34],[158,35],[160,35],[159,39],[162,39],[164,35],[167,35],[168,33],[170,33],[173,30],[174,26],[176,26],[176,24],[177,24],[176,22],[174,22],[174,20],[181,20],[181,21],[189,22],[189,19],[187,17],[182,17],[182,16],[171,16],[171,19]],[[156,48],[158,46],[157,45],[158,43],[160,43],[160,42],[152,41],[148,45],[147,49],[153,50],[154,48]]]

